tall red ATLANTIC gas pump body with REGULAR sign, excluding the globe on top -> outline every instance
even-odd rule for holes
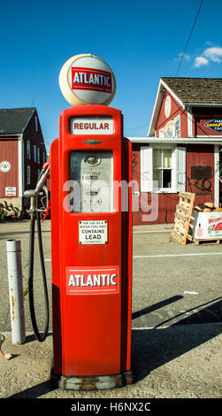
[[[62,112],[50,148],[51,380],[64,389],[133,382],[131,160],[119,110]]]

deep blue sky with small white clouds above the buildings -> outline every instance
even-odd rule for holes
[[[175,76],[201,0],[4,0],[0,108],[35,106],[49,150],[70,107],[58,86],[68,58],[92,53],[111,66],[126,136],[147,135],[159,78]],[[221,78],[221,0],[203,0],[180,77]]]

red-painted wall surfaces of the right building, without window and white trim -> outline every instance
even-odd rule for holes
[[[167,97],[171,99],[171,111],[166,117],[165,115],[165,101]],[[169,98],[168,98],[169,99]],[[206,202],[214,202],[214,190],[215,190],[215,170],[214,170],[214,145],[211,144],[195,144],[195,136],[202,136],[208,139],[211,136],[222,137],[222,108],[220,107],[193,107],[190,109],[192,112],[192,135],[194,136],[194,144],[181,144],[186,147],[186,191],[195,193],[195,204],[204,204]],[[180,104],[176,98],[174,98],[167,90],[163,98],[160,111],[157,119],[156,136],[160,137],[160,130],[163,129],[169,121],[174,120],[180,115],[180,137],[187,138],[188,135],[188,111],[183,109],[183,105]],[[221,131],[215,131],[205,124],[213,119],[221,119]],[[189,123],[190,123],[189,118]],[[180,138],[178,138],[180,141]],[[167,143],[167,138],[165,138]],[[145,145],[145,144],[144,144]],[[146,144],[148,145],[148,144]],[[134,225],[142,224],[161,224],[161,223],[173,223],[174,213],[176,205],[179,202],[178,193],[159,193],[158,195],[158,214],[156,220],[148,220],[149,213],[142,212],[143,206],[151,203],[151,194],[141,193],[141,166],[140,166],[140,148],[141,144],[133,145],[133,179],[136,181],[136,191],[139,195],[133,196],[133,223]],[[211,176],[207,181],[203,181],[203,178],[196,179],[194,171],[197,167],[210,167]],[[203,173],[204,174],[204,173]],[[139,207],[139,210],[138,210]],[[151,207],[152,208],[152,207]],[[146,220],[144,220],[146,219]]]

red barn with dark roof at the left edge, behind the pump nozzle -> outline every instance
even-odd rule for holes
[[[19,215],[46,161],[36,108],[0,109],[0,208]]]

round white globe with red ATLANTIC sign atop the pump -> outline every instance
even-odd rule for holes
[[[73,105],[108,105],[116,93],[111,67],[91,54],[68,59],[59,73],[59,87],[65,100]]]

